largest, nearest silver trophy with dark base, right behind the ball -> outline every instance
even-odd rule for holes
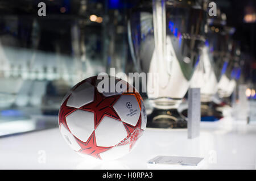
[[[154,109],[148,127],[185,128],[177,111],[200,60],[205,37],[203,1],[154,0],[131,12],[128,32],[137,70],[147,77],[147,96]],[[155,81],[157,79],[157,81]],[[152,82],[156,86],[152,87]]]

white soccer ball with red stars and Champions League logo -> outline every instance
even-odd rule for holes
[[[99,91],[102,80],[97,76],[77,83],[61,102],[59,128],[80,155],[117,159],[129,153],[142,136],[146,109],[133,86],[112,76],[105,78],[108,82],[114,79],[114,86],[122,85],[121,91]]]

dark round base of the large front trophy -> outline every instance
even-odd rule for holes
[[[177,109],[162,110],[154,108],[147,116],[148,128],[187,128],[187,121],[181,117]]]

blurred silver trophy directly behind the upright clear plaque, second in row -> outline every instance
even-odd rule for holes
[[[191,80],[191,87],[201,88],[201,117],[202,120],[218,120],[222,113],[217,111],[213,100],[218,91],[218,83],[228,65],[227,33],[225,14],[218,10],[217,16],[208,17],[206,41],[202,49],[199,66]],[[187,110],[182,112],[187,115]]]

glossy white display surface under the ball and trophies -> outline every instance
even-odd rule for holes
[[[146,129],[136,148],[115,161],[82,158],[59,128],[0,138],[0,169],[256,169],[256,125],[225,118],[201,123],[200,137],[187,129]],[[200,166],[152,165],[157,155],[203,157]]]

